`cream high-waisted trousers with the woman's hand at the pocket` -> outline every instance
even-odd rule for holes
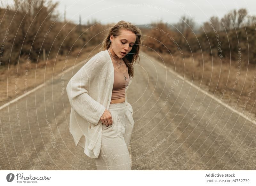
[[[128,145],[132,136],[134,120],[125,102],[110,104],[112,125],[102,123],[102,142],[96,161],[97,170],[131,170]]]

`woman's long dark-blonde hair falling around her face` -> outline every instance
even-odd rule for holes
[[[116,23],[114,26],[110,27],[108,30],[108,34],[104,38],[101,46],[101,50],[107,50],[110,45],[110,36],[113,35],[113,37],[119,36],[121,34],[121,29],[126,29],[132,31],[136,35],[136,41],[132,46],[132,50],[124,56],[123,60],[126,66],[128,67],[128,73],[129,76],[133,77],[134,74],[134,68],[133,68],[133,63],[139,59],[140,62],[140,57],[139,57],[139,51],[140,51],[140,45],[142,44],[142,39],[141,39],[141,31],[138,27],[135,27],[132,25],[130,22],[127,21],[119,21]],[[139,63],[138,62],[138,63]]]

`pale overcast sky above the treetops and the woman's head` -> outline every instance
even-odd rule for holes
[[[97,19],[104,23],[120,20],[132,24],[148,24],[162,19],[167,23],[176,23],[186,14],[200,25],[211,16],[223,17],[233,9],[246,8],[249,14],[256,15],[255,0],[52,0],[60,2],[57,10],[63,13],[67,7],[67,19],[75,23],[82,17],[82,23]]]

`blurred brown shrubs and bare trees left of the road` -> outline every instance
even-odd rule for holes
[[[88,25],[61,22],[63,15],[55,13],[57,5],[46,0],[14,0],[0,9],[0,39],[6,38],[1,65],[18,64],[27,56],[37,63],[43,60],[43,49],[46,59],[51,59],[100,44],[105,26],[97,21]]]

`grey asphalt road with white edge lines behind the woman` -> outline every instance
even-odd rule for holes
[[[53,77],[0,110],[1,170],[96,170],[69,133],[71,77]],[[143,52],[127,94],[132,170],[256,170],[256,125]]]

